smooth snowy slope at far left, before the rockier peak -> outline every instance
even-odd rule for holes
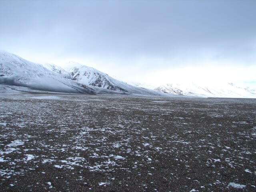
[[[24,86],[36,90],[68,93],[92,93],[93,90],[80,86],[62,76],[24,60],[14,54],[0,52],[0,84]]]

